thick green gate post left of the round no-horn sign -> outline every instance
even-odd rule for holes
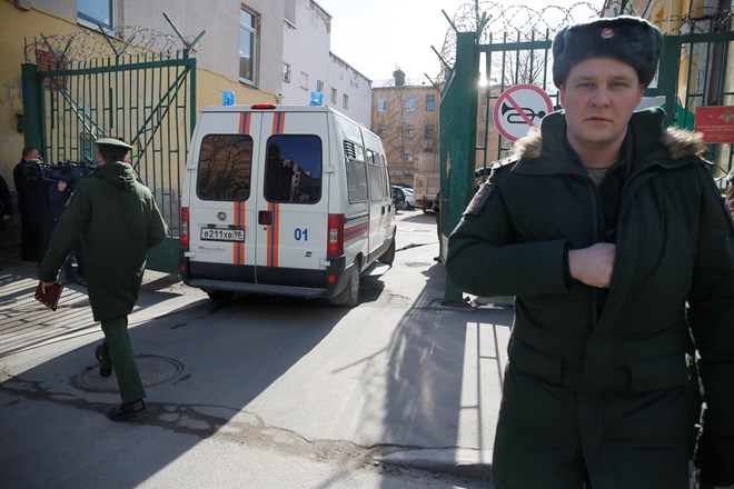
[[[442,236],[448,236],[462,219],[462,213],[474,194],[476,160],[477,98],[479,96],[478,51],[474,32],[456,34],[456,62],[446,87],[448,96],[442,103],[440,187]],[[446,193],[444,196],[444,193]],[[446,277],[444,300],[463,302],[463,291]]]

